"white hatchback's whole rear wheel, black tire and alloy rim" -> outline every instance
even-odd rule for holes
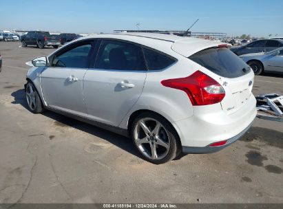
[[[131,137],[143,159],[153,164],[169,162],[182,151],[176,130],[157,113],[138,115],[132,123]]]

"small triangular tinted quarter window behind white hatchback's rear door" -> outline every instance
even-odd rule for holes
[[[145,54],[145,61],[149,70],[164,69],[175,62],[173,58],[169,58],[169,56],[154,50],[143,48],[143,53]]]

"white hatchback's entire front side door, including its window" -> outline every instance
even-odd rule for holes
[[[90,65],[94,41],[63,47],[51,58],[51,67],[41,73],[43,96],[48,107],[87,117],[83,78]]]

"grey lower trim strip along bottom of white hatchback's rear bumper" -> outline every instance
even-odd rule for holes
[[[235,141],[239,140],[240,137],[242,137],[242,135],[244,135],[244,133],[246,133],[251,128],[252,125],[253,125],[253,122],[251,122],[251,124],[249,124],[249,126],[247,126],[247,128],[244,129],[241,133],[238,133],[234,137],[231,137],[229,140],[227,140],[226,144],[224,144],[223,146],[210,146],[210,145],[207,145],[205,147],[182,146],[182,152],[183,153],[192,153],[192,154],[193,153],[198,153],[198,154],[216,153],[216,152],[222,150],[222,148],[225,148],[225,147],[233,144]]]

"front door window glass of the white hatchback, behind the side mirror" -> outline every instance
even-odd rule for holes
[[[73,47],[63,54],[54,57],[52,67],[88,67],[88,56],[90,54],[91,43],[84,43]]]

